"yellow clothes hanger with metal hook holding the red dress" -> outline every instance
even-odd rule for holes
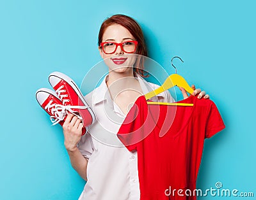
[[[173,57],[172,60],[176,58]],[[177,57],[180,59],[180,57]],[[180,61],[182,61],[182,59],[180,59]],[[183,61],[182,61],[183,62]],[[172,64],[173,66],[173,64]],[[173,66],[175,68],[175,66]],[[156,90],[153,90],[151,92],[148,92],[147,94],[145,94],[145,98],[146,100],[156,96],[157,94],[160,94],[161,92],[164,92],[165,90],[168,90],[174,86],[178,86],[178,87],[183,87],[187,92],[189,92],[189,94],[192,94],[194,92],[193,89],[191,89],[191,87],[189,87],[188,83],[186,82],[186,80],[177,74],[177,69],[175,68],[176,73],[173,75],[168,76],[168,78],[166,78],[166,80],[164,81],[163,85],[161,85],[159,88],[157,88]],[[163,104],[160,102],[148,102],[148,104]],[[164,103],[166,105],[175,105],[175,106],[193,106],[193,104],[187,104],[187,103]]]

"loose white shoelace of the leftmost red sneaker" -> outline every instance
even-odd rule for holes
[[[61,104],[53,103],[53,100],[49,101],[49,103],[45,106],[45,110],[51,111],[52,115],[50,117],[50,120],[52,122],[52,125],[58,124],[61,120],[65,118],[65,115],[68,114],[68,112],[76,115],[77,118],[83,120],[83,118],[80,115],[77,115],[77,112],[72,109],[86,109],[87,106],[64,106]]]

